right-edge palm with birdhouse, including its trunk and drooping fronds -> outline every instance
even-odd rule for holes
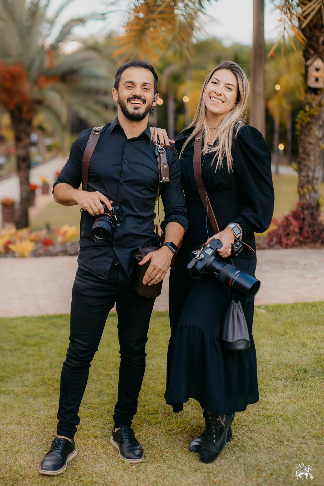
[[[275,0],[274,6],[282,14],[283,40],[287,34],[291,45],[295,48],[287,29],[289,26],[297,39],[304,43],[306,76],[307,62],[314,55],[324,60],[324,0]],[[277,40],[268,55],[272,54],[280,40],[281,38]],[[285,51],[284,42],[282,42],[282,50]],[[312,207],[317,206],[320,199],[323,96],[323,89],[312,88],[305,83],[303,108],[297,117],[299,200],[310,203]]]

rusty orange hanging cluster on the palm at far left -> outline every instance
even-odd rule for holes
[[[30,120],[34,107],[27,93],[26,71],[20,64],[0,62],[0,104],[9,111],[19,111],[22,118]]]

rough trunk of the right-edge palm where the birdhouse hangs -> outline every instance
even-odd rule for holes
[[[301,25],[302,20],[299,20]],[[324,25],[322,11],[317,13],[303,29],[306,37],[303,56],[307,62],[315,54],[324,58]],[[305,66],[307,77],[307,66]],[[322,96],[323,90],[306,88],[306,95],[303,106],[303,121],[300,127],[298,140],[298,192],[301,202],[310,203],[312,206],[318,204],[320,198],[321,181],[321,139],[322,139]]]

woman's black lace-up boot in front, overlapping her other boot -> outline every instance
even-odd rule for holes
[[[232,415],[208,415],[204,411],[205,436],[200,451],[200,462],[209,464],[220,455],[226,445],[227,431],[234,420]]]

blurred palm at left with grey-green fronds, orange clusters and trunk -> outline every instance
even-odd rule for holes
[[[71,30],[89,19],[76,17],[54,35],[57,19],[71,0],[50,16],[50,0],[0,0],[0,105],[11,115],[20,181],[17,228],[28,226],[30,135],[42,113],[54,133],[67,131],[68,109],[93,125],[107,120],[107,62],[95,46],[66,55]]]

